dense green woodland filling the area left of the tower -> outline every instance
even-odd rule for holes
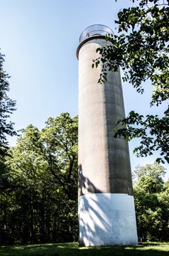
[[[77,117],[49,118],[23,130],[6,157],[0,202],[1,243],[77,239]]]

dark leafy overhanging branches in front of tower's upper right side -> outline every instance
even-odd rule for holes
[[[130,82],[139,93],[144,92],[144,82],[153,85],[150,105],[165,106],[161,115],[130,112],[117,122],[123,128],[117,129],[115,137],[130,141],[141,139],[134,149],[138,156],[153,154],[160,150],[158,162],[169,163],[169,6],[166,1],[132,0],[134,6],[118,13],[117,35],[107,36],[109,46],[98,48],[100,58],[93,60],[97,68],[103,69],[99,82],[105,82],[107,70],[124,71],[124,82]],[[148,85],[147,85],[148,86]]]

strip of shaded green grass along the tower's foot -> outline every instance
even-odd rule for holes
[[[77,242],[1,246],[1,256],[168,256],[168,243],[143,243],[136,246],[81,247]]]

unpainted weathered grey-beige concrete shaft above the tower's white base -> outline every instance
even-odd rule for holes
[[[103,38],[91,39],[81,46],[78,98],[79,194],[128,193],[132,195],[129,148],[124,139],[115,139],[117,119],[124,117],[120,73],[109,73],[99,85],[101,65],[91,68],[98,58],[96,48],[105,46]],[[85,182],[88,180],[88,189]]]

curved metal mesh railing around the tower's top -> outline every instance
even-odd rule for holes
[[[79,43],[84,41],[86,38],[89,38],[91,36],[106,36],[106,35],[111,35],[113,32],[112,30],[101,24],[95,24],[92,26],[88,26],[88,28],[85,28],[85,30],[81,33],[81,36],[79,38]]]

